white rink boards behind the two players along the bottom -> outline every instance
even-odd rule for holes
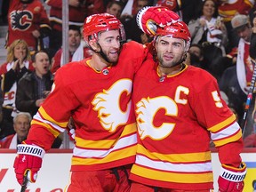
[[[13,161],[16,151],[11,149],[0,149],[0,191],[20,192],[20,185],[16,181]],[[28,192],[64,192],[68,184],[70,160],[72,151],[67,149],[54,149],[44,155],[43,166],[38,174],[36,183],[30,184]],[[252,182],[256,180],[256,149],[244,149],[242,158],[247,164],[248,171],[245,178],[244,191],[253,191]],[[218,180],[220,162],[218,154],[212,153],[212,168],[214,181]],[[255,181],[256,182],[256,181]],[[214,182],[214,191],[218,191]]]

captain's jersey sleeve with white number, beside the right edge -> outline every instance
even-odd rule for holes
[[[211,133],[211,139],[219,152],[220,163],[238,167],[241,163],[243,140],[236,116],[220,97],[220,90],[215,80],[209,80],[199,90],[192,102],[199,123]]]

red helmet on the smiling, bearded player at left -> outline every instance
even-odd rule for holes
[[[108,13],[93,14],[84,21],[84,40],[89,42],[89,36],[98,37],[99,32],[116,30],[120,31],[121,40],[125,41],[123,24],[114,15]]]

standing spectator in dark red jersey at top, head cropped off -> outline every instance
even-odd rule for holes
[[[50,49],[54,55],[62,45],[62,0],[46,0],[45,3],[50,6]],[[82,27],[86,16],[100,12],[104,12],[102,0],[68,0],[68,25]]]

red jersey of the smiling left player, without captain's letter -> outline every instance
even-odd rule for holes
[[[96,71],[88,58],[58,69],[55,87],[34,116],[27,140],[48,150],[72,116],[76,147],[71,171],[134,163],[137,138],[132,81],[145,54],[141,44],[131,42],[123,45],[116,66]]]

